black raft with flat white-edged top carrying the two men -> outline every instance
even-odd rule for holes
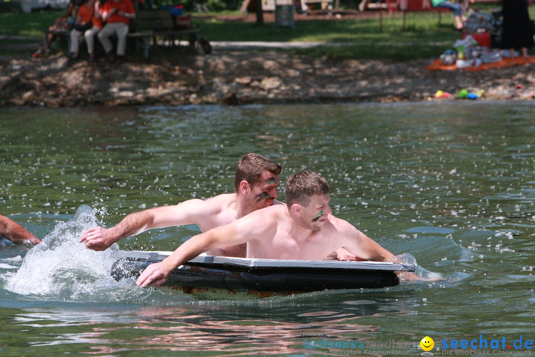
[[[138,277],[148,265],[172,252],[112,252],[116,280]],[[396,271],[414,271],[411,264],[339,262],[333,260],[243,259],[199,255],[175,269],[165,285],[185,292],[227,290],[247,292],[310,292],[332,289],[381,288],[399,284]]]

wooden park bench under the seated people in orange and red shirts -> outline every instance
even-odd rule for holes
[[[135,40],[136,51],[139,51],[139,42],[143,41],[143,56],[149,58],[150,39],[152,39],[153,44],[156,44],[156,36],[166,37],[169,44],[174,46],[175,37],[184,35],[189,37],[190,43],[198,43],[200,42],[200,33],[201,31],[196,28],[176,28],[175,21],[167,10],[138,10],[136,18],[130,21],[130,32],[127,37]],[[47,30],[45,39],[48,34],[66,37],[67,48],[71,47],[70,30]],[[45,44],[48,47],[47,41]]]

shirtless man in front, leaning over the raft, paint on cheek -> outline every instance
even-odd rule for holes
[[[323,177],[297,172],[288,178],[286,205],[256,210],[190,238],[162,262],[149,265],[136,284],[162,285],[175,268],[202,252],[246,242],[248,258],[322,260],[341,247],[365,260],[387,261],[394,256],[347,221],[332,216],[329,201]]]

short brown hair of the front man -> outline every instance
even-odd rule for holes
[[[308,207],[312,196],[327,193],[329,193],[327,180],[312,171],[296,172],[286,181],[285,198],[288,207],[294,203]]]

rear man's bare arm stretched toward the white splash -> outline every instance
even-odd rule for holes
[[[188,200],[176,206],[151,208],[126,216],[110,229],[93,227],[82,233],[79,242],[86,242],[86,248],[105,250],[123,237],[135,236],[151,228],[162,228],[184,224],[201,224],[218,209],[213,199]]]

